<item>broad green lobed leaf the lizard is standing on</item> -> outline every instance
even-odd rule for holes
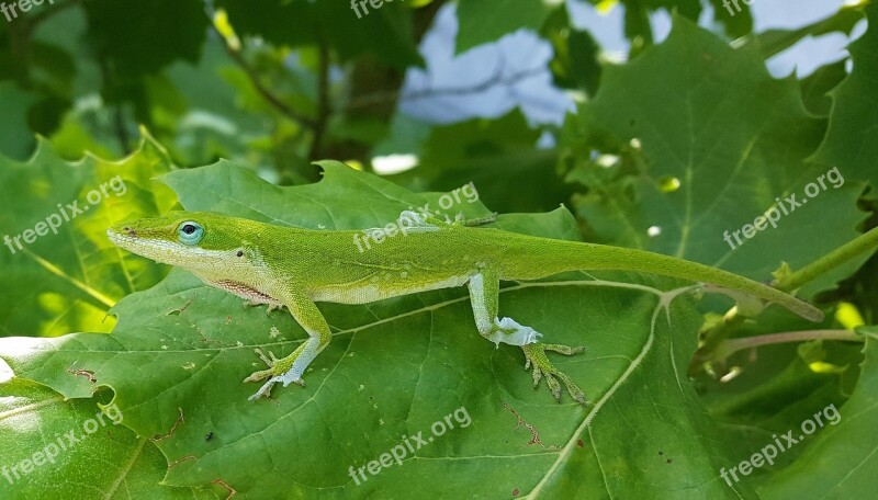
[[[166,180],[190,209],[327,229],[384,225],[408,205],[440,203],[440,193],[413,194],[338,163],[323,167],[322,182],[288,189],[229,162]],[[470,216],[485,211],[477,203],[462,208]],[[577,234],[563,209],[504,216],[497,225]],[[464,289],[322,305],[334,341],[305,388],[279,389],[274,401],[247,401],[256,387],[240,380],[259,367],[254,348],[285,354],[304,332],[288,314],[245,309],[182,271],[123,299],[110,336],[5,339],[0,355],[18,377],[66,397],[112,388],[124,424],[138,435],[172,430],[157,443],[175,464],[168,485],[222,480],[260,499],[399,497],[413,481],[447,498],[753,497],[717,477],[728,459],[685,375],[701,318],[691,299],[672,302],[687,288],[633,274],[601,277],[634,285],[565,277],[504,288],[502,314],[552,342],[587,345],[586,354],[558,360],[590,397],[587,408],[558,405],[544,387],[534,391],[520,352],[495,349],[475,332]],[[447,416],[453,430],[354,482],[349,467],[380,459],[403,435],[424,431],[426,439]]]

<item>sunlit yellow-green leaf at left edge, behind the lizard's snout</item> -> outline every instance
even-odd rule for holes
[[[149,137],[119,162],[67,163],[45,141],[26,163],[0,157],[0,334],[110,331],[109,308],[164,272],[113,247],[106,227],[171,208],[173,193],[151,180],[170,167]]]

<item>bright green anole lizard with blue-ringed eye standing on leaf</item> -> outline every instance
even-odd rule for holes
[[[518,345],[533,385],[541,377],[561,399],[560,378],[585,402],[576,384],[549,361],[547,351],[572,355],[583,348],[543,343],[541,333],[498,317],[500,281],[531,281],[567,271],[619,270],[679,277],[743,292],[777,303],[812,321],[823,314],[778,289],[708,265],[641,250],[554,240],[468,227],[414,212],[405,235],[368,251],[357,230],[281,227],[211,212],[172,212],[110,228],[117,246],[192,272],[206,284],[269,308],[285,306],[308,339],[281,360],[261,356],[268,370],[245,382],[267,379],[250,399],[268,397],[277,383],[304,385],[302,374],[329,343],[329,326],[318,302],[367,304],[384,298],[466,285],[475,326],[487,340]],[[261,352],[260,352],[261,355]]]

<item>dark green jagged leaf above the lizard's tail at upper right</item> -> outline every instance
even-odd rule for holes
[[[577,213],[595,239],[766,281],[781,261],[801,268],[858,235],[866,175],[843,166],[828,174],[833,166],[806,161],[824,122],[804,110],[793,80],[769,77],[753,48],[734,50],[675,16],[665,43],[601,78],[569,128],[571,180],[587,189]],[[620,160],[589,159],[589,149]],[[744,226],[776,200],[789,214],[774,208],[776,228],[763,220],[747,239]],[[802,295],[833,287],[866,257]]]

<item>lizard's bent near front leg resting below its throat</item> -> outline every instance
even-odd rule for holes
[[[302,374],[305,373],[311,362],[329,344],[329,340],[333,338],[326,319],[324,319],[323,314],[306,293],[297,289],[288,291],[284,294],[283,303],[290,309],[290,314],[293,315],[296,322],[308,333],[308,339],[292,354],[281,360],[274,359],[273,354],[270,360],[262,356],[269,368],[255,372],[244,379],[244,382],[259,382],[268,378],[262,384],[262,387],[250,396],[251,401],[262,396],[268,397],[271,387],[279,382],[283,383],[284,387],[290,384],[304,386]]]

